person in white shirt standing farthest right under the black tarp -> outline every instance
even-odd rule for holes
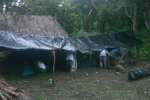
[[[102,68],[109,68],[109,52],[107,49],[103,49],[101,52],[100,52],[100,66]]]

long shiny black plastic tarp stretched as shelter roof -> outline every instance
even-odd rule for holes
[[[121,34],[121,33],[120,33]],[[117,40],[117,36],[120,34],[103,34],[91,37],[48,37],[48,36],[36,36],[29,33],[17,34],[13,32],[0,32],[0,49],[1,50],[15,50],[17,52],[37,52],[46,51],[54,54],[54,51],[65,52],[80,52],[92,53],[99,52],[103,48],[130,48],[135,45],[132,41],[128,45],[126,41]],[[125,34],[125,33],[124,33]],[[128,35],[127,35],[128,36]],[[120,36],[121,38],[121,36]],[[123,37],[122,37],[123,38]],[[132,38],[133,39],[133,38]],[[57,58],[56,58],[57,59]],[[55,63],[55,62],[54,62]]]

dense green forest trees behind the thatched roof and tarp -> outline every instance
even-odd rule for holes
[[[0,12],[51,15],[73,36],[133,31],[150,57],[150,0],[0,0]]]

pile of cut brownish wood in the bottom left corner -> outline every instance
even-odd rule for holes
[[[31,100],[24,91],[0,80],[0,100]]]

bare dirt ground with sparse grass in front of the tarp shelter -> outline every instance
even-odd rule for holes
[[[56,73],[55,87],[50,78],[51,74],[40,74],[8,82],[25,90],[33,100],[150,100],[150,77],[129,82],[127,73],[86,68]]]

